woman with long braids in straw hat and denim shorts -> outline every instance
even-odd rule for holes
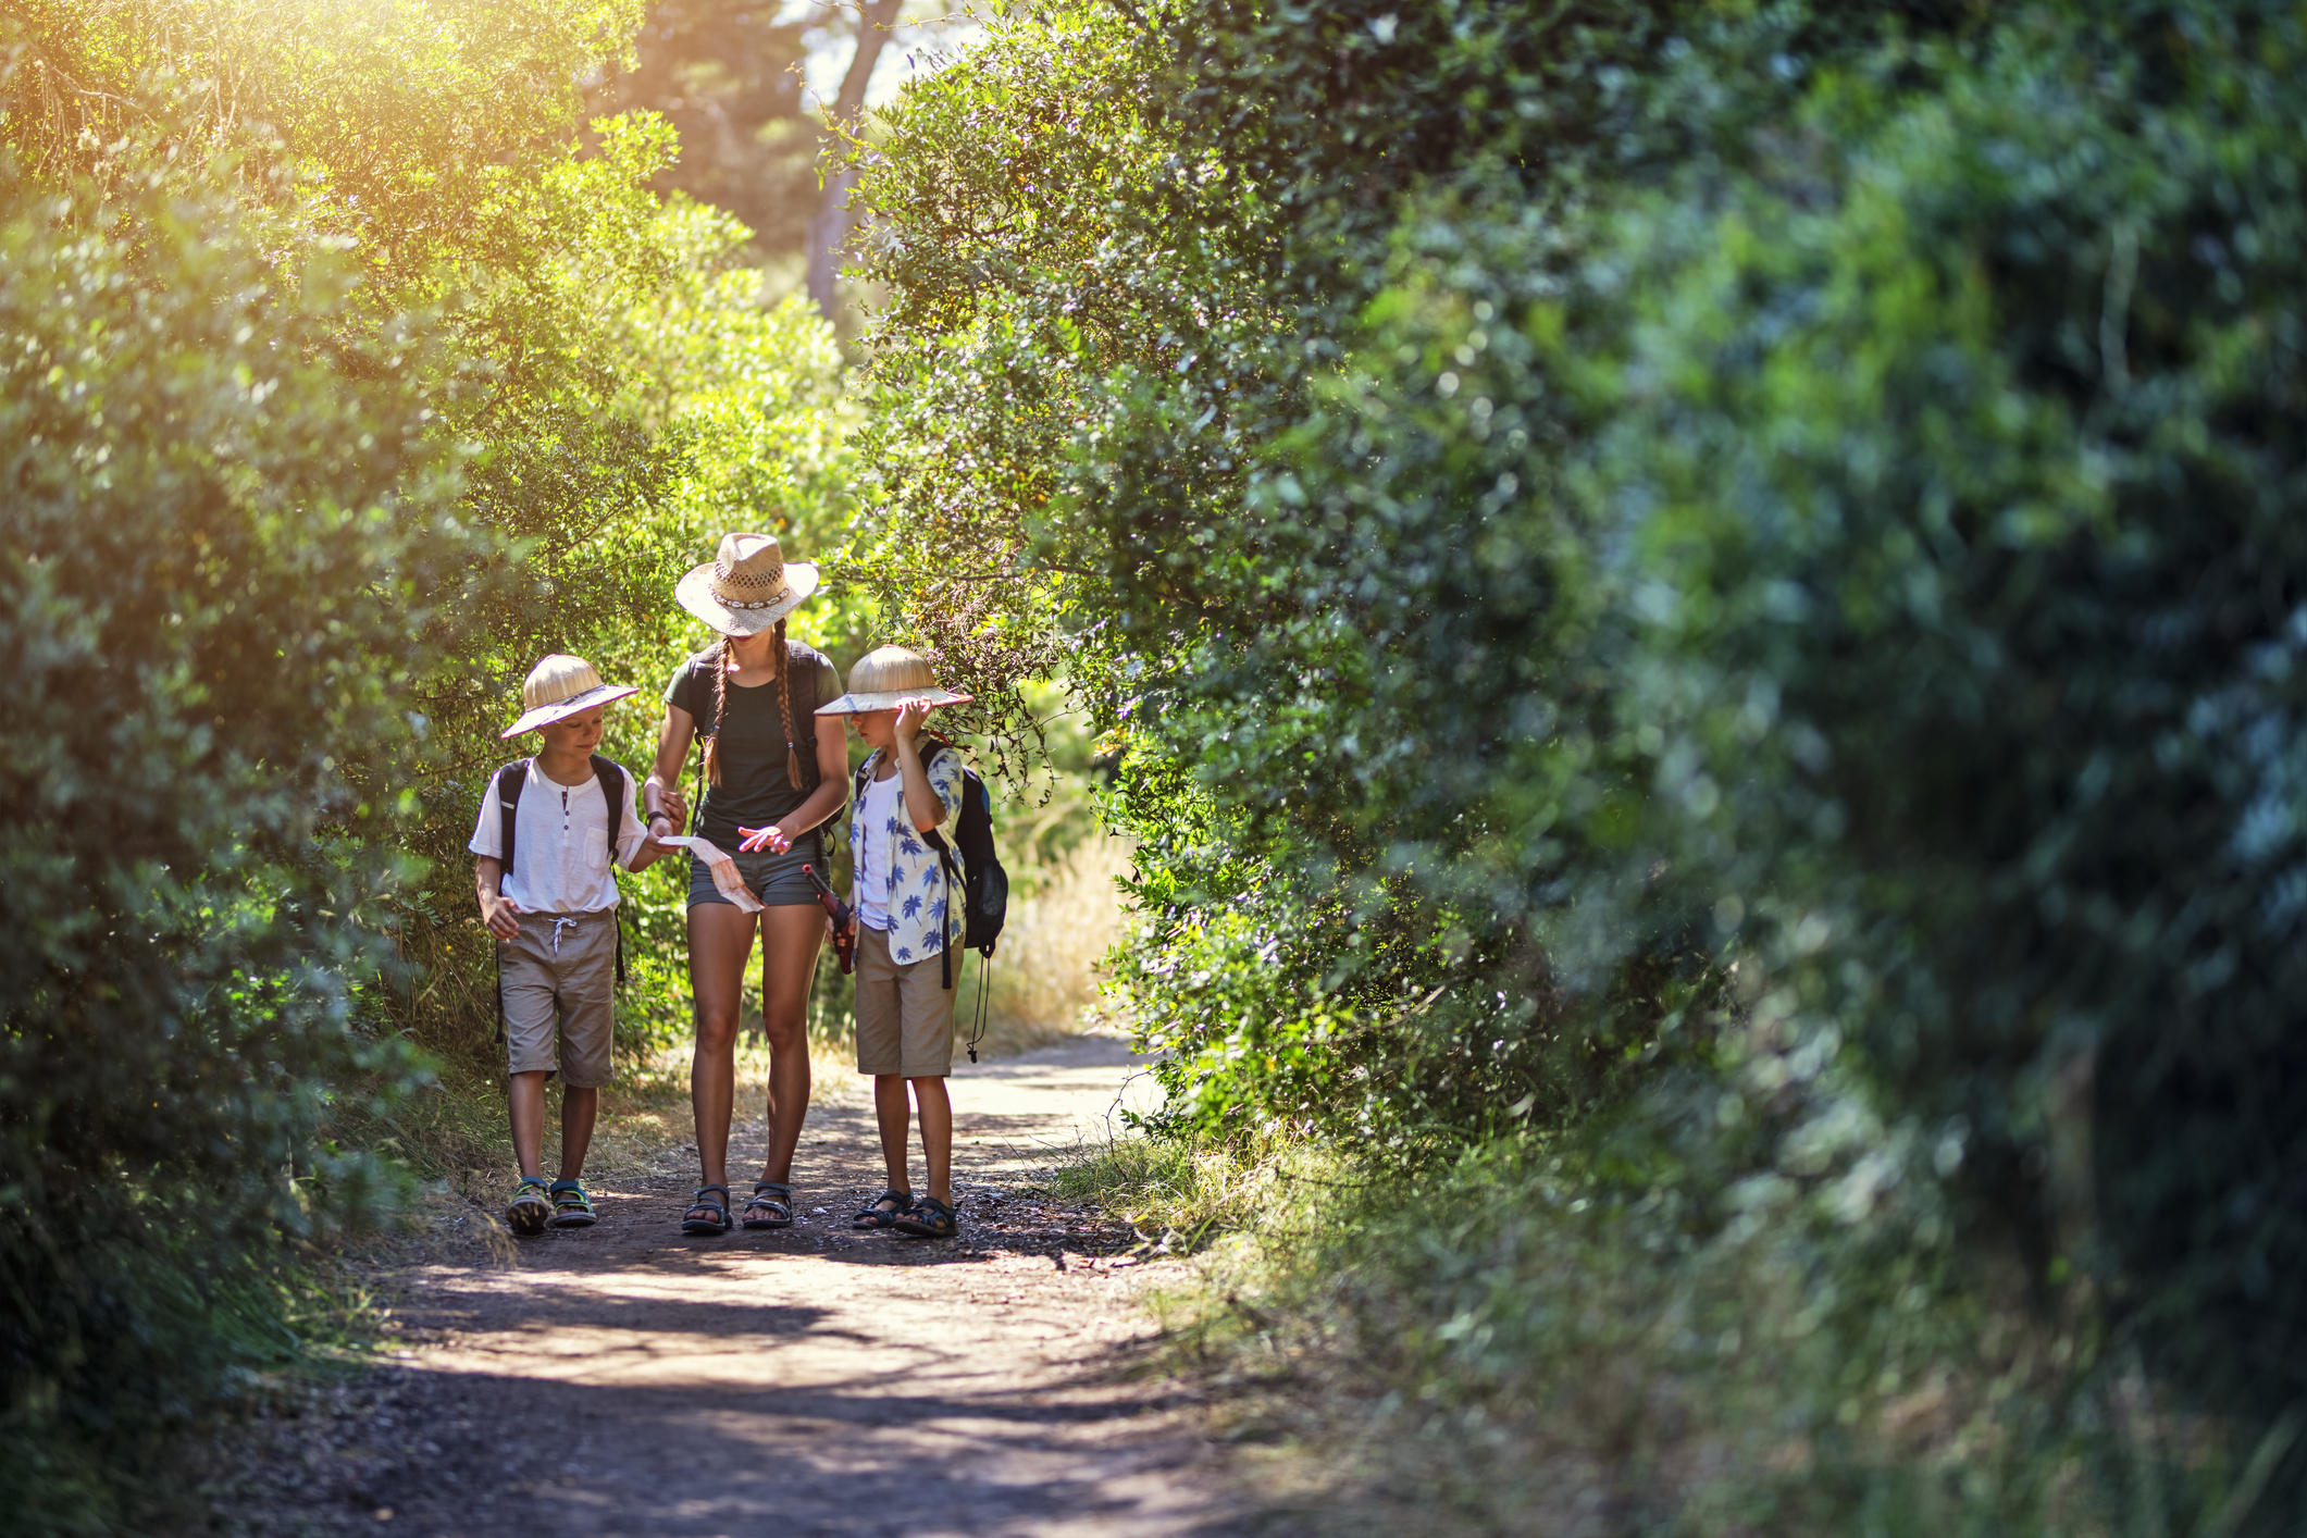
[[[697,998],[697,1056],[690,1105],[704,1183],[681,1220],[683,1234],[782,1229],[794,1222],[794,1144],[810,1109],[805,1010],[826,915],[803,865],[826,869],[819,828],[849,791],[849,745],[840,717],[817,706],[842,692],[824,653],[784,639],[784,616],[817,590],[817,567],[787,563],[771,535],[722,535],[715,558],[681,579],[674,597],[720,632],[683,662],[664,687],[657,766],[644,791],[651,835],[678,832],[657,805],[681,782],[690,740],[701,738],[701,796],[690,832],[734,855],[738,906],[690,853],[690,989]],[[664,828],[660,828],[664,823]],[[738,1003],[761,932],[761,1033],[768,1038],[768,1158],[738,1217],[729,1201],[729,1114],[736,1100]]]

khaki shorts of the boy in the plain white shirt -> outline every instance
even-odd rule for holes
[[[616,1028],[616,909],[521,913],[521,932],[496,943],[496,966],[512,1072],[558,1068],[570,1088],[607,1084]]]

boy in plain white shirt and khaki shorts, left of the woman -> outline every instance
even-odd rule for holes
[[[600,713],[639,689],[604,685],[581,657],[551,655],[521,685],[528,713],[503,731],[542,731],[535,759],[489,779],[473,828],[480,922],[496,936],[496,1012],[512,1072],[512,1153],[521,1183],[505,1204],[514,1234],[581,1229],[595,1217],[581,1174],[609,1081],[618,973],[616,874],[669,853],[655,823],[634,816],[634,777],[600,747]],[[678,791],[671,793],[678,800]],[[510,858],[508,858],[510,835]],[[526,920],[526,922],[524,922]],[[558,1056],[554,1035],[558,1026]],[[561,1178],[544,1183],[544,1081],[563,1075]]]

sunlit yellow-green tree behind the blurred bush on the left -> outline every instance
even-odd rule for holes
[[[431,874],[401,892],[399,938],[424,987],[390,1010],[475,1068],[494,1005],[464,844],[521,676],[551,650],[660,673],[701,643],[669,593],[724,528],[844,517],[824,323],[764,314],[743,226],[648,189],[674,161],[660,118],[577,134],[577,83],[632,62],[639,16],[482,5],[341,28],[325,9],[111,0],[35,35],[62,83],[23,118],[42,154],[76,164],[72,104],[134,101],[136,71],[175,69],[201,81],[187,143],[275,166],[245,187],[298,249],[355,251],[360,323],[438,318],[457,390],[434,401],[436,433],[468,445],[464,514],[508,537],[461,666],[413,696],[434,763],[408,849]],[[614,726],[614,752],[646,756],[632,722]]]

